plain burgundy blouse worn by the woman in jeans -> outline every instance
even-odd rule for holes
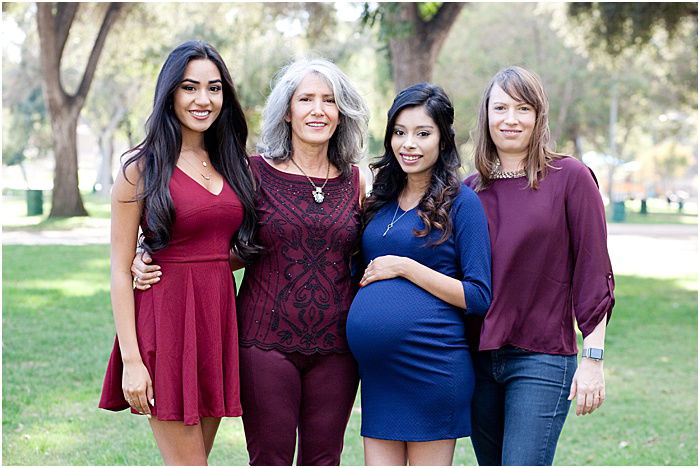
[[[480,350],[512,345],[576,354],[574,318],[584,338],[610,319],[615,282],[600,192],[580,161],[563,158],[552,166],[537,190],[520,177],[494,180],[477,192],[493,268]],[[474,188],[475,179],[464,182]]]

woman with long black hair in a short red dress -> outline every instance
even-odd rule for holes
[[[240,416],[229,250],[256,253],[248,129],[221,56],[182,44],[158,76],[145,140],[112,189],[111,296],[117,329],[99,406],[148,416],[168,465],[205,465],[223,416]],[[137,243],[161,265],[133,291]]]

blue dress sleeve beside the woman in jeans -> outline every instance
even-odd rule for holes
[[[483,317],[491,305],[491,243],[481,201],[466,186],[452,206],[452,222],[466,313]]]

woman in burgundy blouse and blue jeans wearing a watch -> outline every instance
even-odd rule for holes
[[[551,465],[569,405],[605,400],[614,305],[605,211],[592,172],[548,149],[539,78],[498,72],[481,100],[478,173],[465,183],[488,219],[493,301],[474,351],[472,441],[481,465]],[[577,368],[575,323],[583,335]]]

